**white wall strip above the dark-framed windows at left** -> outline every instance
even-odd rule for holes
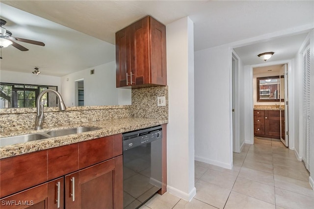
[[[34,85],[51,85],[58,86],[58,91],[61,89],[61,79],[55,76],[45,76],[39,74],[38,76],[32,73],[20,73],[0,70],[0,81],[6,83],[23,83]]]

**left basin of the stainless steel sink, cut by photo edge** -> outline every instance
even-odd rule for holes
[[[51,136],[47,135],[46,133],[31,133],[31,134],[25,134],[25,135],[4,137],[4,138],[0,138],[0,147],[6,146],[6,145],[12,145],[12,144],[24,143],[28,141],[39,140],[39,139],[46,139],[49,137]]]

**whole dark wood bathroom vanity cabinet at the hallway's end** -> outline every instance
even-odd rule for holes
[[[280,138],[280,111],[254,110],[254,135]]]

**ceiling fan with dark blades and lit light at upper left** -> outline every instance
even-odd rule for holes
[[[16,43],[15,41],[21,41],[21,42],[25,42],[25,43],[28,43],[28,44],[35,44],[35,45],[39,45],[39,46],[45,46],[45,44],[43,42],[40,42],[40,41],[33,41],[33,40],[29,40],[29,39],[24,39],[24,38],[13,37],[12,33],[10,31],[8,31],[4,27],[2,27],[5,24],[6,24],[6,21],[0,19],[0,39],[1,39],[0,43],[2,43],[2,41],[5,42],[5,40],[8,40],[9,42],[6,41],[6,42],[8,42],[8,44],[6,44],[6,46],[0,46],[0,48],[12,45],[13,47],[15,47],[18,50],[28,51],[27,48],[25,48],[22,45]]]

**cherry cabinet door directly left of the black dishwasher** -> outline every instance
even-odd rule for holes
[[[122,156],[82,169],[65,178],[65,206],[67,209],[122,208],[122,182]]]

